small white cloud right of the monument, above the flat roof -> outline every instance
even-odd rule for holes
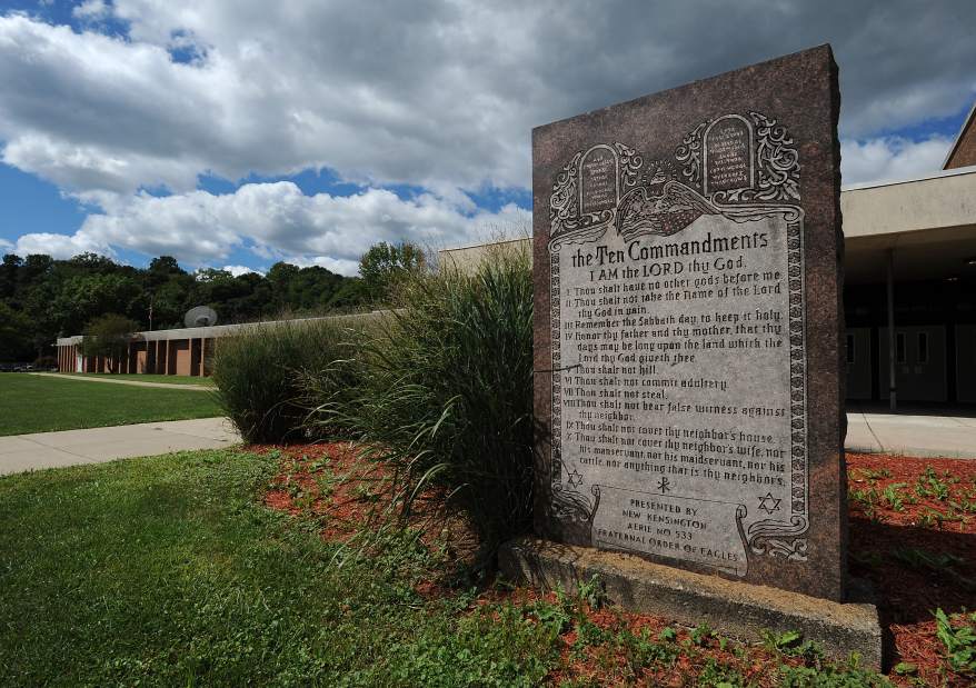
[[[897,181],[942,169],[952,146],[945,137],[910,141],[880,137],[840,144],[840,171],[845,185],[866,181]]]

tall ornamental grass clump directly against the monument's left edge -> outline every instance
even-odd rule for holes
[[[437,493],[447,512],[467,516],[485,570],[502,541],[531,526],[529,260],[497,252],[471,275],[414,275],[398,301],[363,350],[360,395],[326,405],[317,422],[342,417],[363,456],[381,463],[392,486],[386,524]]]

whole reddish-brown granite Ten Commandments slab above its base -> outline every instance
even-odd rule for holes
[[[841,599],[828,47],[534,131],[536,529]]]

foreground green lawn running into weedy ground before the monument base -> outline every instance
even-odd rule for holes
[[[597,586],[421,595],[449,569],[438,548],[390,537],[355,556],[310,512],[261,503],[276,471],[220,450],[0,478],[0,685],[890,686],[813,649],[804,666],[807,646],[787,660],[706,626],[631,630],[616,608],[597,626]],[[746,681],[753,652],[766,668]],[[562,682],[579,662],[591,672]]]

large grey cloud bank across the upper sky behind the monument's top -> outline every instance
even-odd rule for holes
[[[129,36],[0,17],[0,136],[9,164],[81,191],[323,167],[372,185],[525,187],[532,126],[825,38],[847,136],[955,114],[976,93],[972,2],[741,0],[721,21],[623,0],[76,9]]]

